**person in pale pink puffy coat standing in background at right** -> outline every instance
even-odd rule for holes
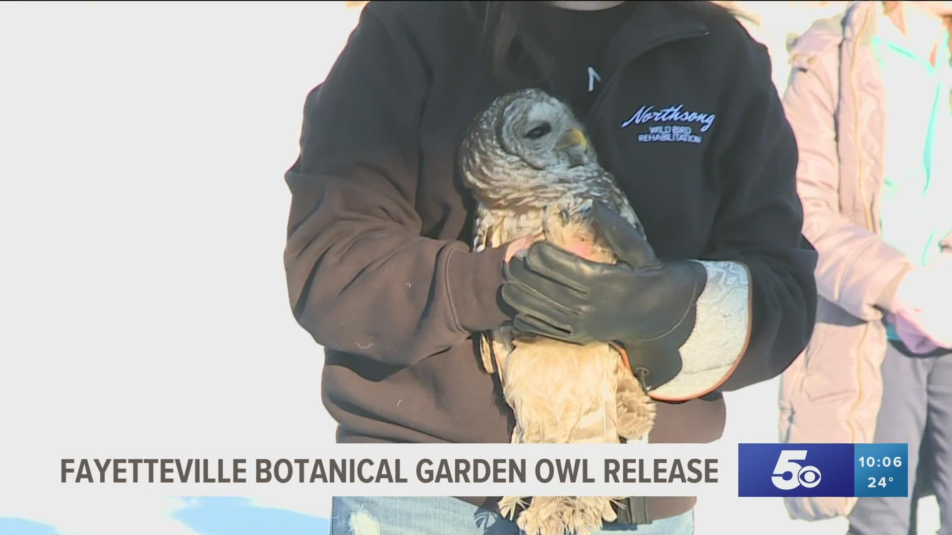
[[[920,446],[952,533],[952,2],[856,2],[790,50],[818,325],[782,376],[781,440]],[[926,432],[928,429],[928,432]],[[909,532],[911,498],[787,498],[793,518]]]

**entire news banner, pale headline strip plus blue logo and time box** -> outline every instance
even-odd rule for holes
[[[59,458],[42,463],[40,480],[84,493],[134,487],[164,496],[304,489],[325,496],[908,495],[904,444],[353,444],[230,457],[187,448],[58,449]],[[35,465],[11,466],[8,475],[37,482]]]

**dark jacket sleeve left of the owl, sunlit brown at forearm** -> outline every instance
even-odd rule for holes
[[[307,96],[284,262],[293,315],[318,344],[406,366],[503,323],[505,251],[421,235],[426,62],[375,4]]]

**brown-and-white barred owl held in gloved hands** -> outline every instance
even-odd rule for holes
[[[541,89],[507,93],[477,115],[460,163],[476,202],[474,250],[529,236],[614,263],[592,223],[596,201],[642,228],[580,122]],[[579,346],[507,325],[482,333],[480,347],[515,415],[513,444],[618,444],[642,439],[654,423],[653,402],[612,345]],[[504,497],[499,505],[510,519],[519,511],[517,524],[528,535],[584,535],[617,518],[611,497],[525,498]]]

